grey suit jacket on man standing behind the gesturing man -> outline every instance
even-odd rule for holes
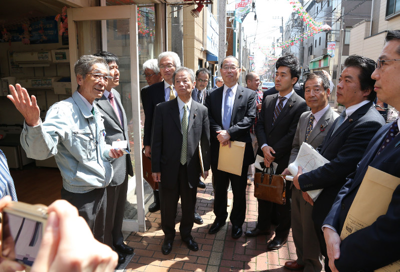
[[[104,128],[106,129],[106,143],[111,145],[113,141],[117,141],[118,139],[121,139],[121,141],[127,140],[128,141],[127,148],[128,150],[130,150],[128,123],[124,107],[121,104],[121,97],[120,94],[115,89],[111,89],[111,91],[114,94],[114,101],[118,104],[118,106],[121,109],[124,128],[122,127],[113,106],[111,106],[110,101],[106,96],[103,95],[99,100],[97,100],[97,107],[103,114]],[[126,173],[128,173],[130,176],[133,176],[131,156],[124,155],[118,159],[114,159],[111,162],[111,165],[113,166],[114,169],[114,176],[110,183],[111,186],[122,184],[125,180]]]

